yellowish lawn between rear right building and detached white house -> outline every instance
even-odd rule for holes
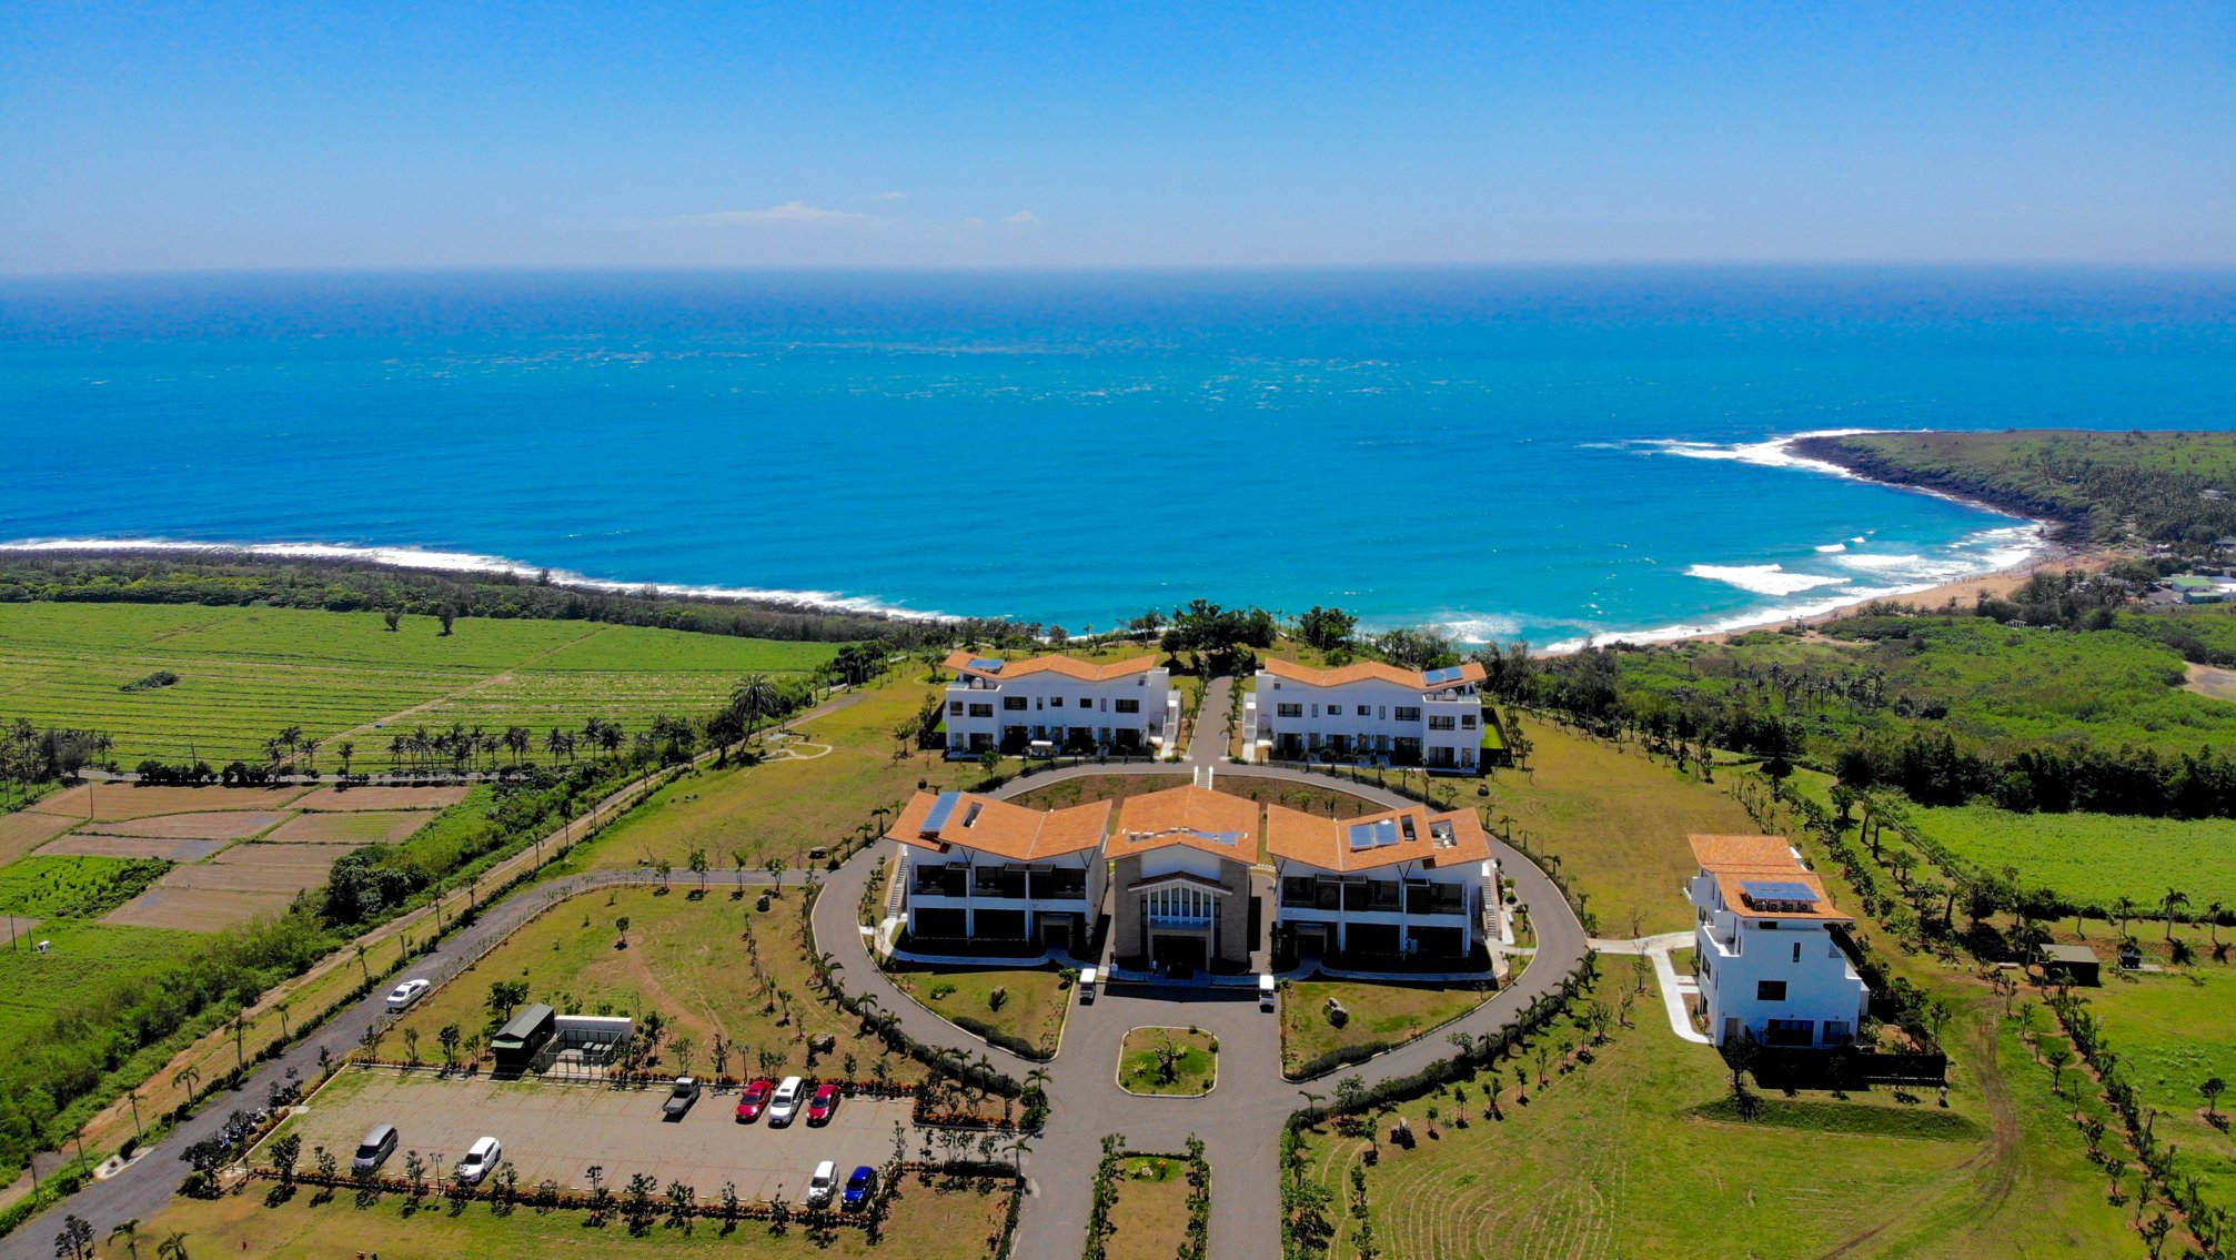
[[[1641,934],[1688,929],[1693,907],[1681,885],[1699,865],[1686,836],[1757,831],[1740,802],[1547,722],[1529,722],[1527,735],[1534,773],[1498,771],[1491,822],[1516,842],[1527,831],[1532,851],[1561,856],[1561,874],[1592,894],[1585,909],[1601,934],[1630,936],[1632,916]]]

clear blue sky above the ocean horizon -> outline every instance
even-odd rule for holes
[[[2236,4],[0,4],[0,273],[1554,259],[2232,264]]]

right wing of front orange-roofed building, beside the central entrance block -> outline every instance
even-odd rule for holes
[[[1498,860],[1469,811],[1321,818],[1268,804],[1266,853],[1283,954],[1489,961],[1476,949],[1498,907]]]

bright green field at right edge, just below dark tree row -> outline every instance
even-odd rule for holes
[[[1992,804],[1914,809],[1918,831],[1983,871],[2017,867],[2019,880],[2111,905],[2153,907],[2182,889],[2196,909],[2236,905],[2236,820],[2126,818],[2113,813],[2012,813]]]

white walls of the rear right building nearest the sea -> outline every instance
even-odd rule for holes
[[[1335,737],[1344,737],[1346,755],[1359,755],[1359,737],[1368,753],[1389,753],[1398,739],[1420,739],[1422,764],[1438,766],[1449,757],[1456,769],[1474,769],[1482,751],[1482,697],[1474,684],[1433,693],[1382,679],[1313,686],[1259,670],[1254,697],[1254,724],[1245,719],[1245,737],[1250,746],[1272,742],[1275,757],[1281,757],[1283,735],[1297,735],[1306,751],[1324,751]],[[1299,706],[1299,713],[1283,715],[1283,704]],[[1400,708],[1418,708],[1420,717],[1404,722],[1398,717]],[[1433,717],[1451,717],[1451,731],[1431,728]]]

